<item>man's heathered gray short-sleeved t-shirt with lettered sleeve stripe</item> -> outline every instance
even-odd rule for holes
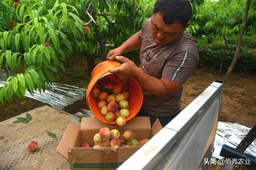
[[[148,75],[184,84],[198,66],[198,49],[192,36],[184,31],[175,42],[157,45],[153,42],[148,18],[139,35],[142,40],[140,49],[140,69]],[[168,99],[160,100],[143,90],[142,108],[156,116],[171,116],[180,109],[183,86]]]

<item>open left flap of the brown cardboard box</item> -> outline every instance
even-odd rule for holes
[[[57,148],[57,152],[68,159],[68,149],[73,148],[77,143],[80,144],[79,138],[80,128],[76,127],[73,123],[69,123]]]

